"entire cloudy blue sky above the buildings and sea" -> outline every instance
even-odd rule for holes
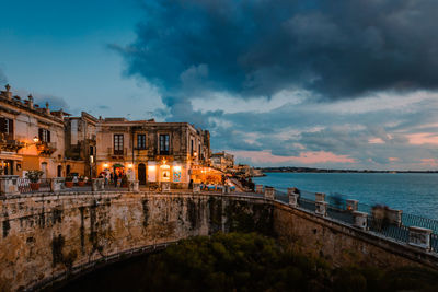
[[[4,1],[0,85],[255,166],[438,170],[436,0]]]

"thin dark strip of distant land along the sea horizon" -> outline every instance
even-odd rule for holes
[[[262,173],[359,173],[359,174],[437,174],[438,171],[321,170],[308,167],[260,167]]]

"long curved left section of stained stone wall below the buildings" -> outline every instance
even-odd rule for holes
[[[263,199],[66,194],[0,199],[0,291],[41,284],[135,248],[217,231],[270,232]]]

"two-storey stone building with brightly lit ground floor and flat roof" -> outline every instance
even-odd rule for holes
[[[96,124],[99,174],[124,173],[140,185],[169,182],[185,188],[192,170],[209,157],[209,132],[187,122],[101,118]]]

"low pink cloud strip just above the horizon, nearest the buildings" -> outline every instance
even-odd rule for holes
[[[336,155],[326,151],[301,152],[299,156],[278,156],[269,151],[235,151],[234,155],[242,159],[250,159],[253,163],[355,163],[356,161],[348,155]]]

